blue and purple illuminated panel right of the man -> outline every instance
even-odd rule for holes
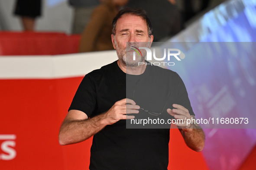
[[[239,169],[256,144],[255,40],[256,0],[227,1],[169,40],[186,55],[169,69],[183,79],[196,118],[248,117],[251,125],[203,126],[212,170]]]

